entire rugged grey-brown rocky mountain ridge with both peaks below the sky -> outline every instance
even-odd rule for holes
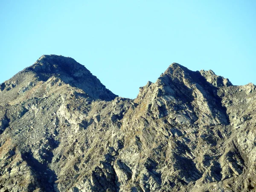
[[[0,192],[256,191],[256,86],[172,64],[136,99],[43,55],[0,85]]]

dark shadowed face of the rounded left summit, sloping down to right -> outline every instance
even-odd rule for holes
[[[43,55],[31,66],[42,79],[59,77],[71,86],[84,90],[93,99],[113,100],[116,95],[93,76],[86,67],[73,58],[59,55]]]

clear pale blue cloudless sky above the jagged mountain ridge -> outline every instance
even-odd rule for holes
[[[0,83],[44,54],[128,98],[173,62],[256,84],[256,0],[0,0]]]

